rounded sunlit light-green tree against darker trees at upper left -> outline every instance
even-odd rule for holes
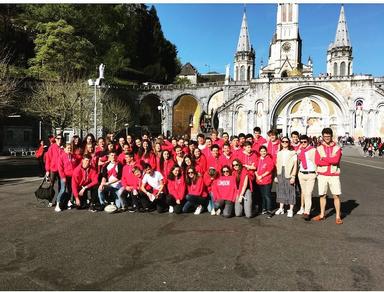
[[[42,79],[77,79],[89,73],[93,45],[75,35],[73,26],[59,20],[39,23],[37,29],[31,75]]]

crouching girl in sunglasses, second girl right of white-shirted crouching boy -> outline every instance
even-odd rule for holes
[[[187,169],[187,195],[186,203],[183,207],[183,213],[189,212],[191,207],[196,207],[195,215],[199,215],[203,209],[203,205],[207,201],[207,193],[204,190],[203,177],[200,176],[193,167]]]

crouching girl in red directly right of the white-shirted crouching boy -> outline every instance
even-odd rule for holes
[[[182,212],[182,203],[185,197],[185,180],[181,173],[181,168],[177,164],[171,169],[167,180],[168,194],[165,197],[166,203],[169,206],[169,213]]]

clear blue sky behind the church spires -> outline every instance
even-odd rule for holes
[[[225,73],[231,65],[240,33],[244,7],[248,31],[260,62],[268,62],[269,43],[276,29],[276,4],[154,4],[165,37],[176,45],[183,64],[199,73]],[[341,4],[300,4],[299,31],[302,62],[313,61],[314,75],[326,72],[326,53],[334,41]],[[353,47],[353,72],[384,76],[384,4],[345,4]]]

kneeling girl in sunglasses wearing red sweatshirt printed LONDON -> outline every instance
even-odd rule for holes
[[[223,212],[223,217],[232,217],[237,192],[236,180],[228,165],[222,167],[221,176],[213,182],[212,193],[215,199],[216,215]]]

